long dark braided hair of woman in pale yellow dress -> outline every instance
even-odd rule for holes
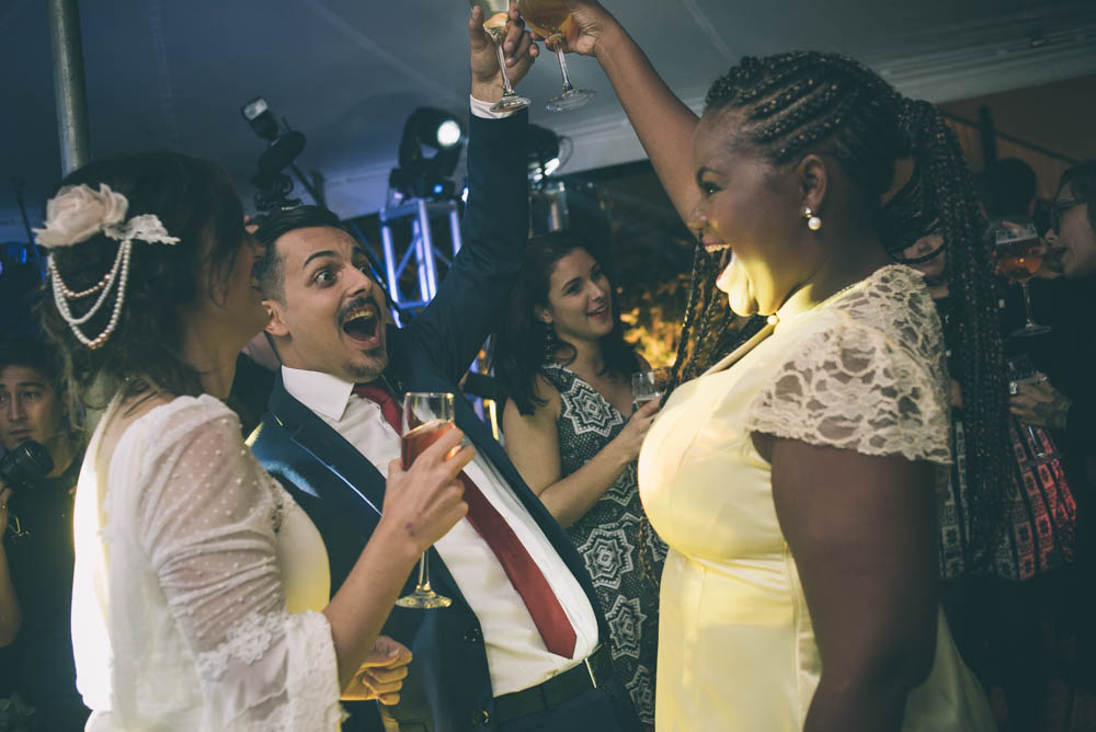
[[[912,156],[920,184],[910,195],[917,196],[922,211],[938,211],[948,252],[946,276],[957,300],[952,347],[969,431],[969,559],[984,561],[1001,526],[1007,404],[990,254],[979,230],[973,181],[955,135],[936,107],[904,99],[863,64],[838,54],[746,57],[712,83],[706,104],[708,112],[735,112],[729,142],[760,152],[774,167],[795,164],[809,153],[834,157],[866,202],[880,202],[898,161]],[[888,251],[904,248],[898,232],[909,227],[899,219],[907,213],[907,206],[878,204],[866,211]],[[697,245],[675,385],[703,374],[763,323],[754,317],[735,328],[726,299],[713,293],[723,256]]]

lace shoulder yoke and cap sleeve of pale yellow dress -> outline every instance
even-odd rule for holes
[[[918,273],[882,267],[798,318],[773,336],[809,329],[750,407],[750,430],[950,462],[944,336]]]

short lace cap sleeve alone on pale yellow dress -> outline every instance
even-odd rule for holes
[[[812,445],[951,461],[943,369],[880,330],[838,321],[798,344],[746,425]]]

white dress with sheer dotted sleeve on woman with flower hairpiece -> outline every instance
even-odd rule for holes
[[[89,729],[338,729],[334,647],[316,611],[326,551],[236,415],[208,396],[156,408],[118,439],[105,476],[99,441],[76,508]]]

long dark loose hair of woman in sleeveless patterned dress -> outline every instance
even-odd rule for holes
[[[604,267],[596,248],[574,235],[556,232],[529,239],[525,262],[510,293],[501,325],[491,338],[491,365],[495,377],[522,414],[532,414],[546,403],[537,396],[536,378],[545,363],[548,327],[536,318],[535,308],[548,304],[548,283],[556,263],[576,249],[585,250]],[[612,281],[609,289],[612,291]],[[605,371],[627,376],[638,370],[638,362],[635,350],[624,340],[616,297],[612,302],[613,330],[601,339]],[[564,363],[574,357],[573,345],[559,339],[556,342],[557,352],[569,354],[564,355]]]

